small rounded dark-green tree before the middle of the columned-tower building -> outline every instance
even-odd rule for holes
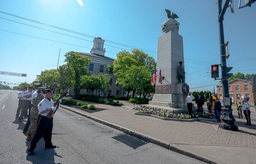
[[[108,81],[109,82],[109,81]],[[101,79],[98,75],[84,75],[80,79],[80,89],[90,89],[92,93],[95,89],[101,89]],[[92,97],[91,93],[91,97]]]

